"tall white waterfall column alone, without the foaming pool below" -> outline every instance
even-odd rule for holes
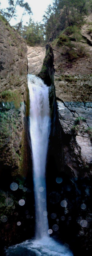
[[[33,156],[33,182],[36,213],[36,239],[48,235],[45,167],[50,130],[49,88],[28,75],[30,97],[30,136]]]

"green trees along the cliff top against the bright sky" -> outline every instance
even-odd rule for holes
[[[34,23],[30,18],[27,26],[22,26],[22,18],[28,13],[32,14],[31,8],[28,3],[24,3],[24,0],[8,0],[9,7],[2,10],[1,14],[10,21],[12,17],[16,17],[16,8],[19,5],[23,8],[21,20],[15,25],[15,28],[19,34],[27,41],[30,46],[44,45],[44,42],[53,41],[56,38],[55,44],[61,46],[68,44],[67,35],[61,37],[62,31],[67,28],[66,33],[72,35],[76,41],[77,55],[79,50],[78,42],[81,39],[80,26],[85,22],[85,15],[91,10],[91,0],[53,0],[53,6],[48,5],[45,14],[43,15],[43,23]],[[90,24],[91,25],[91,24]],[[88,30],[91,33],[91,27]],[[82,50],[81,50],[82,51]],[[80,57],[84,56],[79,53]],[[76,59],[76,54],[70,50],[69,59]]]

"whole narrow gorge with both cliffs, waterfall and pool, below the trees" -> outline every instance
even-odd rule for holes
[[[63,45],[27,46],[0,20],[2,255],[91,255],[87,26],[89,55],[72,63]]]

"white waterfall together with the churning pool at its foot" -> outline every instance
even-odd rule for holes
[[[67,246],[49,236],[45,166],[50,131],[49,88],[40,78],[28,75],[30,136],[36,211],[36,238],[6,249],[7,256],[73,256]],[[51,229],[50,229],[51,230]],[[53,232],[53,231],[52,231]]]

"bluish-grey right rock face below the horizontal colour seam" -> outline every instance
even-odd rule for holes
[[[92,144],[88,131],[91,131],[92,104],[57,101],[57,105],[63,129],[65,166],[75,176],[90,176]]]

